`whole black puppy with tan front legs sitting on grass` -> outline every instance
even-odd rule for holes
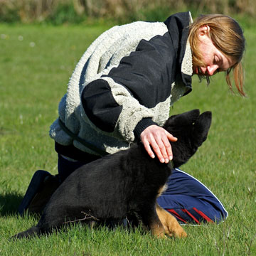
[[[206,140],[211,112],[199,110],[171,116],[164,129],[178,138],[171,142],[174,159],[151,159],[142,143],[102,157],[73,172],[53,193],[35,227],[14,238],[50,233],[65,223],[82,220],[122,220],[136,215],[158,237],[186,236],[176,219],[156,204],[171,169],[181,166]]]

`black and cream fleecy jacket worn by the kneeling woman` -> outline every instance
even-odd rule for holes
[[[170,106],[191,91],[191,22],[186,12],[165,22],[137,21],[102,33],[82,55],[60,101],[65,126],[113,154],[127,149],[149,125],[164,124]],[[70,137],[58,119],[50,137],[97,155]]]

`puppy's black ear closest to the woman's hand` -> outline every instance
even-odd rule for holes
[[[193,124],[198,119],[199,114],[199,110],[191,110],[182,114],[172,115],[164,124],[164,129],[168,130],[169,127],[183,127]]]

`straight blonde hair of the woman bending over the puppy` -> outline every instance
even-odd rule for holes
[[[230,73],[233,73],[235,87],[240,95],[245,96],[244,73],[242,68],[242,55],[245,51],[245,37],[237,21],[222,14],[208,14],[199,16],[190,26],[188,35],[193,54],[193,64],[203,66],[201,53],[198,52],[198,29],[209,26],[209,37],[218,50],[235,61],[235,65],[225,71],[225,78],[230,90],[233,91]],[[208,77],[206,79],[209,81]]]

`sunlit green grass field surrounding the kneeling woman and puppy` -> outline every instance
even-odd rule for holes
[[[0,255],[256,255],[256,30],[247,28],[247,98],[232,95],[224,75],[193,92],[171,114],[213,112],[208,140],[183,170],[206,184],[229,217],[220,225],[185,226],[188,238],[157,240],[138,230],[74,228],[41,239],[9,241],[37,218],[18,204],[37,169],[57,173],[48,136],[75,64],[107,26],[0,24]]]

